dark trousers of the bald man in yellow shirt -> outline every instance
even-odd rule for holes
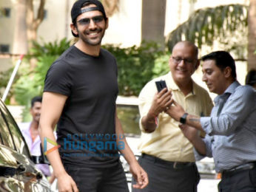
[[[159,161],[158,161],[159,160]],[[155,157],[142,156],[138,159],[141,167],[149,176],[149,185],[132,192],[196,192],[200,175],[196,165],[174,168],[168,162]],[[132,183],[135,183],[134,179]]]

